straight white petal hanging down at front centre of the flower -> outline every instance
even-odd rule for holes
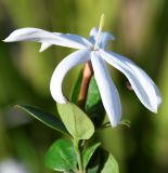
[[[104,108],[112,127],[116,127],[121,118],[121,104],[118,91],[111,79],[104,59],[102,59],[99,52],[92,52],[91,63]]]

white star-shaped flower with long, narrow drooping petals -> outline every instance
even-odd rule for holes
[[[51,94],[57,103],[66,104],[67,101],[62,92],[65,75],[75,66],[91,61],[104,108],[112,127],[116,127],[121,118],[121,104],[105,62],[120,70],[128,78],[141,103],[151,111],[157,112],[161,97],[158,88],[145,71],[127,57],[105,50],[109,40],[114,40],[114,37],[108,32],[101,32],[101,29],[98,28],[91,29],[89,40],[77,35],[49,32],[37,28],[23,28],[13,31],[4,41],[40,42],[42,43],[40,52],[52,44],[79,49],[79,51],[65,57],[55,68],[50,82]]]

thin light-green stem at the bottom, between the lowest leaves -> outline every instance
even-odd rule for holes
[[[78,168],[79,168],[79,173],[85,173],[82,170],[82,160],[81,160],[81,155],[80,155],[80,149],[79,149],[79,141],[74,139],[74,146],[77,155],[77,161],[78,161]]]

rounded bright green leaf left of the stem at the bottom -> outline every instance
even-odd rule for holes
[[[77,158],[72,142],[61,138],[53,143],[46,155],[46,164],[55,171],[74,170],[77,165]]]

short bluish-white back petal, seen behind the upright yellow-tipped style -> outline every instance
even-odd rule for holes
[[[89,40],[93,44],[95,43],[95,40],[96,40],[98,30],[99,30],[99,28],[94,27],[90,31]],[[101,34],[101,40],[100,40],[99,46],[102,48],[102,49],[105,49],[105,46],[107,45],[108,41],[111,41],[111,40],[115,40],[115,37],[113,35],[111,35],[109,32],[107,32],[107,31],[103,31]]]

